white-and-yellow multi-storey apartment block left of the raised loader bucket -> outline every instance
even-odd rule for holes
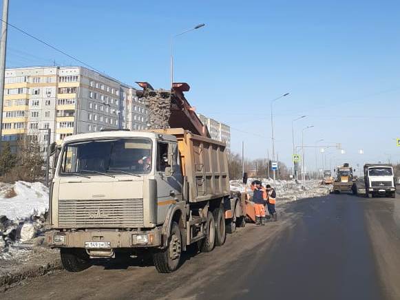
[[[144,129],[145,114],[136,89],[85,67],[6,69],[3,141],[37,136],[45,153],[48,138],[60,143],[74,133]],[[50,137],[42,130],[49,128]]]

